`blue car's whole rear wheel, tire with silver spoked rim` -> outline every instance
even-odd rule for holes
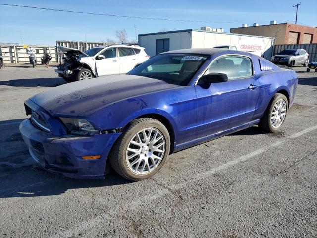
[[[278,131],[285,121],[288,110],[288,101],[284,94],[276,93],[269,103],[259,126],[268,131]]]

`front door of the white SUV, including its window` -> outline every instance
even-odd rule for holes
[[[98,76],[119,74],[119,62],[116,57],[115,47],[108,48],[99,55],[104,56],[105,59],[98,60],[96,57],[96,69]]]

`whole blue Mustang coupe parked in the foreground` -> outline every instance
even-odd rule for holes
[[[125,75],[35,95],[25,101],[31,117],[20,131],[49,171],[103,179],[112,166],[138,181],[157,173],[173,152],[254,125],[279,130],[297,83],[294,71],[246,52],[169,51]]]

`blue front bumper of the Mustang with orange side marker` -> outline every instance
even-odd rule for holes
[[[66,177],[103,179],[110,149],[120,133],[95,136],[52,134],[36,128],[30,119],[22,121],[20,132],[32,158],[44,169]],[[100,159],[83,156],[101,155]]]

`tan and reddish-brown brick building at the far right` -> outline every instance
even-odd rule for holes
[[[317,43],[317,27],[288,22],[276,24],[272,21],[270,25],[262,26],[256,23],[253,26],[244,24],[242,27],[231,28],[230,33],[274,37],[276,45]]]

